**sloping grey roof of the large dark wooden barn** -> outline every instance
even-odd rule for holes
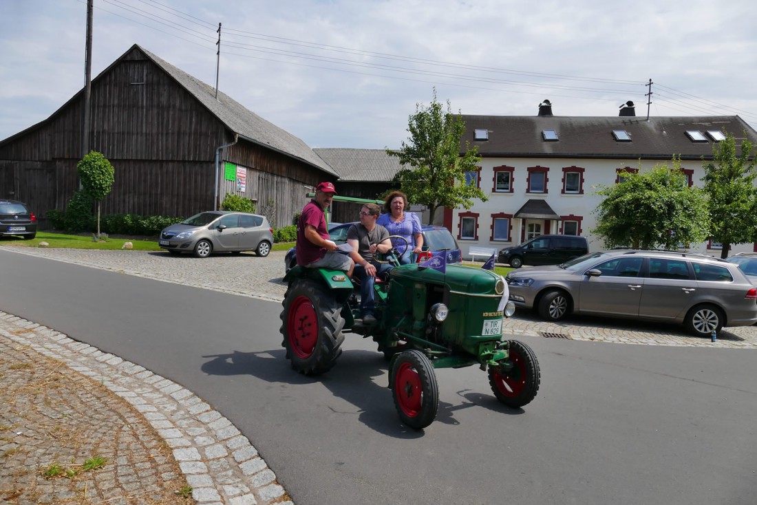
[[[298,137],[249,111],[226,93],[219,91],[218,98],[216,98],[216,91],[213,86],[208,86],[200,79],[189,75],[178,67],[174,67],[162,58],[158,58],[145,48],[135,44],[121,58],[126,57],[135,49],[142,51],[145,56],[165,70],[179,85],[195,96],[208,111],[214,114],[232,132],[238,133],[242,139],[279,151],[333,176],[338,176],[338,173],[335,173],[332,167],[329,167],[329,164],[318,157],[313,149]]]

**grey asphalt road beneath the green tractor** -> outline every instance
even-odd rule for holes
[[[519,337],[543,374],[532,404],[441,369],[438,418],[414,432],[371,341],[347,335],[326,376],[294,373],[273,302],[0,250],[0,309],[195,391],[298,504],[755,503],[751,350]]]

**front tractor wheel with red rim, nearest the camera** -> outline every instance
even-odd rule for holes
[[[412,429],[424,429],[436,419],[439,386],[434,366],[421,351],[403,351],[394,358],[390,385],[400,420]]]

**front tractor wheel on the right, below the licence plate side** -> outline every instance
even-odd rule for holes
[[[510,341],[512,369],[489,367],[489,385],[497,400],[507,407],[519,408],[531,403],[541,383],[541,370],[536,354],[522,341]]]

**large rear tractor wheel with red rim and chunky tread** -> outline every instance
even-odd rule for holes
[[[306,376],[328,372],[344,341],[341,304],[322,285],[301,279],[290,285],[282,305],[282,346],[291,367]]]

